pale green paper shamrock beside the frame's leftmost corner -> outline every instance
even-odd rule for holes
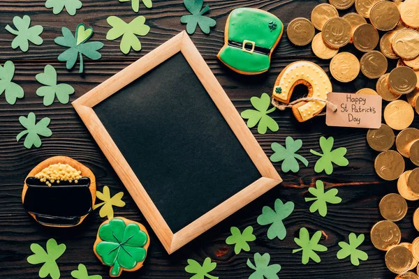
[[[71,85],[57,84],[57,71],[51,65],[45,66],[44,73],[36,75],[36,80],[45,85],[36,90],[36,95],[43,97],[45,106],[52,105],[55,96],[57,96],[59,103],[66,104],[70,100],[70,95],[74,93]]]

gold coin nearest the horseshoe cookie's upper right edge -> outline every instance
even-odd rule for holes
[[[351,82],[360,73],[360,62],[350,52],[341,52],[330,61],[330,73],[339,82]]]

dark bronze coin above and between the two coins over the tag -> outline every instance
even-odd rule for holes
[[[380,36],[372,24],[361,24],[353,31],[353,45],[361,52],[369,52],[376,48]]]

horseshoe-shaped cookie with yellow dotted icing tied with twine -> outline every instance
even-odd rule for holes
[[[297,84],[304,84],[309,89],[309,98],[326,100],[328,92],[332,92],[332,83],[325,71],[315,63],[297,61],[286,66],[277,77],[272,96],[279,102],[288,104]],[[310,100],[293,105],[295,118],[307,121],[319,114],[326,106],[325,102]]]

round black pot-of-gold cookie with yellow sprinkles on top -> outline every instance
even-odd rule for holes
[[[41,225],[73,227],[92,211],[96,179],[88,167],[72,158],[55,156],[29,172],[24,181],[24,209]]]

